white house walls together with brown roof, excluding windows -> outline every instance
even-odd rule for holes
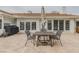
[[[0,35],[3,33],[4,31],[4,24],[8,23],[10,25],[17,25],[19,27],[19,31],[20,32],[24,32],[26,30],[26,22],[36,22],[36,30],[32,30],[32,28],[30,29],[31,32],[36,32],[36,31],[40,31],[42,26],[42,22],[44,21],[44,15],[41,16],[42,14],[39,13],[39,15],[37,14],[23,14],[23,15],[16,15],[16,14],[10,14],[10,13],[6,13],[3,11],[0,11],[0,19],[2,20],[2,28],[0,29]],[[72,18],[72,19],[71,19]],[[47,23],[48,20],[51,20],[52,22],[52,30],[48,30],[47,27]],[[58,20],[58,30],[59,30],[59,20],[64,20],[64,33],[74,33],[76,32],[76,21],[79,21],[79,17],[78,16],[72,16],[72,15],[65,15],[65,14],[58,14],[58,16],[54,16],[53,14],[50,14],[48,16],[46,16],[45,21],[46,21],[46,30],[47,31],[54,31],[54,20]],[[70,21],[70,30],[66,30],[65,28],[65,21],[69,20]],[[20,30],[20,22],[24,22],[24,30]]]

